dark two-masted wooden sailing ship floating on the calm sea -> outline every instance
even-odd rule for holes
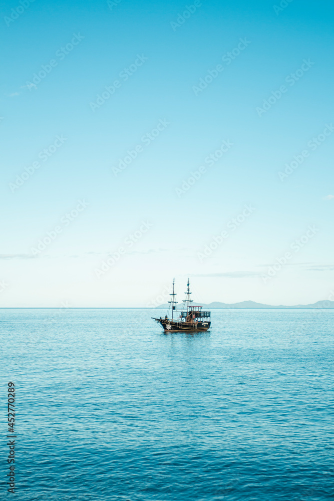
[[[193,301],[190,299],[190,283],[188,279],[186,298],[183,300],[183,305],[179,310],[176,310],[177,301],[175,301],[175,279],[173,280],[172,301],[168,301],[171,305],[165,317],[153,318],[161,325],[165,332],[200,332],[207,331],[211,325],[211,312],[202,311],[202,306],[191,306]],[[172,310],[171,318],[169,318],[170,310]]]

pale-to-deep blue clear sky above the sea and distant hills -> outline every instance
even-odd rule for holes
[[[331,3],[1,5],[2,306],[328,299]]]

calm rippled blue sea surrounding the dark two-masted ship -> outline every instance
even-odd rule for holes
[[[334,311],[213,310],[195,335],[157,313],[0,310],[15,498],[332,499]]]

